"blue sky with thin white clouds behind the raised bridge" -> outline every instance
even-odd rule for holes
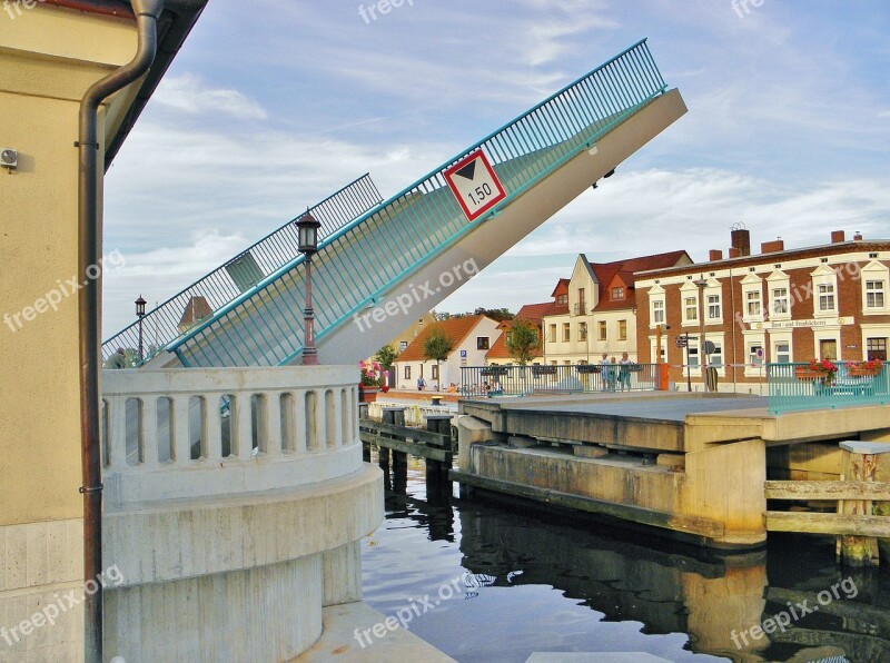
[[[592,261],[890,238],[883,0],[210,0],[106,177],[103,338],[356,177],[385,198],[640,39],[689,112],[437,306]],[[374,12],[370,8],[375,8]],[[120,260],[115,261],[116,265]]]

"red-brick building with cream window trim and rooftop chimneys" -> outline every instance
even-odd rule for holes
[[[720,390],[759,393],[768,362],[887,358],[890,240],[835,231],[830,244],[785,249],[778,239],[751,255],[749,231],[735,229],[729,257],[712,250],[708,263],[637,273],[635,281],[639,360],[655,360],[656,327],[669,325],[661,354],[681,388],[685,355],[675,338],[689,334],[692,388],[701,389],[701,311]]]

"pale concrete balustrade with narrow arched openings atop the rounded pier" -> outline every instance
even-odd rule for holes
[[[211,497],[362,465],[350,367],[106,370],[106,503]]]

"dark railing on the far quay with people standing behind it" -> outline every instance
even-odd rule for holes
[[[486,398],[547,393],[653,392],[657,385],[657,364],[463,366],[459,392],[464,397]]]

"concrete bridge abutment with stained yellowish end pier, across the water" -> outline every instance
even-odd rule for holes
[[[851,456],[842,441],[890,439],[890,408],[773,415],[759,397],[548,395],[463,400],[457,428],[451,476],[464,492],[524,497],[743,551],[764,545],[771,530],[832,533],[804,522],[817,514],[794,522],[793,512],[769,511],[768,479],[828,487]],[[873,457],[877,481],[886,481],[890,466]],[[820,511],[820,499],[825,495],[812,493],[805,505]],[[880,537],[883,524],[874,524]]]

